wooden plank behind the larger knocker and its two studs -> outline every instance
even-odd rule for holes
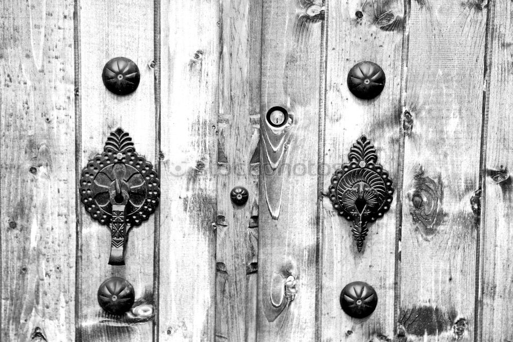
[[[81,0],[81,165],[103,151],[111,131],[122,127],[135,151],[155,160],[155,106],[153,89],[153,1],[104,2]],[[102,82],[102,70],[111,58],[123,56],[137,64],[141,81],[135,92],[117,96]],[[153,216],[129,231],[125,266],[108,265],[111,233],[82,209],[82,263],[78,319],[83,340],[149,341],[153,316]],[[136,303],[123,317],[101,310],[96,292],[111,276],[128,280]]]

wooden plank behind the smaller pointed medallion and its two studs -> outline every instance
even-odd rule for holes
[[[392,181],[402,176],[397,169],[403,12],[402,1],[329,3],[325,192],[334,171],[349,162],[347,154],[362,134],[376,147],[378,163],[389,171]],[[348,89],[347,74],[361,61],[374,62],[385,72],[385,88],[374,99],[359,99]],[[353,223],[324,197],[322,340],[393,337],[396,200],[382,218],[367,224],[369,234],[359,253],[351,233]],[[377,291],[378,307],[366,319],[351,318],[341,309],[340,292],[352,281],[365,281]]]

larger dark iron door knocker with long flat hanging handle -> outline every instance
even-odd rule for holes
[[[147,220],[159,204],[159,178],[135,152],[122,128],[110,133],[104,152],[82,170],[80,196],[87,212],[112,232],[109,265],[125,265],[128,231]]]

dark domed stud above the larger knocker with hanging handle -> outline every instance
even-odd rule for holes
[[[102,73],[103,84],[116,95],[128,95],[137,89],[141,74],[137,65],[128,58],[112,58]]]

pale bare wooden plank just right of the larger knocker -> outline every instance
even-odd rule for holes
[[[159,337],[213,340],[219,2],[161,6]]]

